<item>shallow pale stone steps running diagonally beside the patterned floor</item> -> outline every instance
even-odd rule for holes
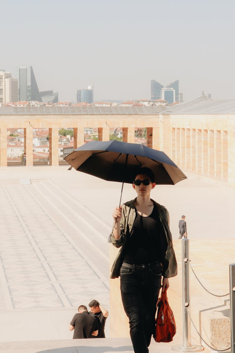
[[[97,229],[103,229],[105,225],[87,212],[81,211],[78,202],[71,202],[63,196],[62,190],[50,183],[34,183],[25,185],[27,191],[47,211],[56,224],[66,232],[69,237],[79,245],[84,254],[91,258],[101,273],[109,278],[109,244],[106,232],[104,234]],[[101,227],[103,225],[103,228]],[[107,231],[107,226],[106,226]],[[109,229],[110,231],[110,229]]]

